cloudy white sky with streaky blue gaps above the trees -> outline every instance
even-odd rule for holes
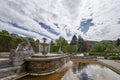
[[[120,37],[120,0],[0,0],[0,30],[68,41]]]

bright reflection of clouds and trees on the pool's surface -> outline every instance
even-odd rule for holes
[[[61,80],[120,80],[120,75],[96,62],[75,62]]]

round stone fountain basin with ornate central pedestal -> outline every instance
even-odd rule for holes
[[[65,54],[50,54],[49,44],[46,43],[46,38],[43,38],[43,43],[40,43],[39,53],[32,57],[27,57],[26,71],[30,75],[48,75],[62,70],[65,64],[70,61],[68,55]]]

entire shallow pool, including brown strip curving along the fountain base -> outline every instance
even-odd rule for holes
[[[20,80],[120,80],[120,75],[95,61],[77,60],[66,65],[69,66],[68,71],[65,69],[47,76],[26,76]]]

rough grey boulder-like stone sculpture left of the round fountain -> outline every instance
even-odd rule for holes
[[[26,57],[31,57],[34,54],[33,48],[29,41],[20,43],[16,49],[10,52],[10,60],[13,66],[20,66],[24,63]]]

